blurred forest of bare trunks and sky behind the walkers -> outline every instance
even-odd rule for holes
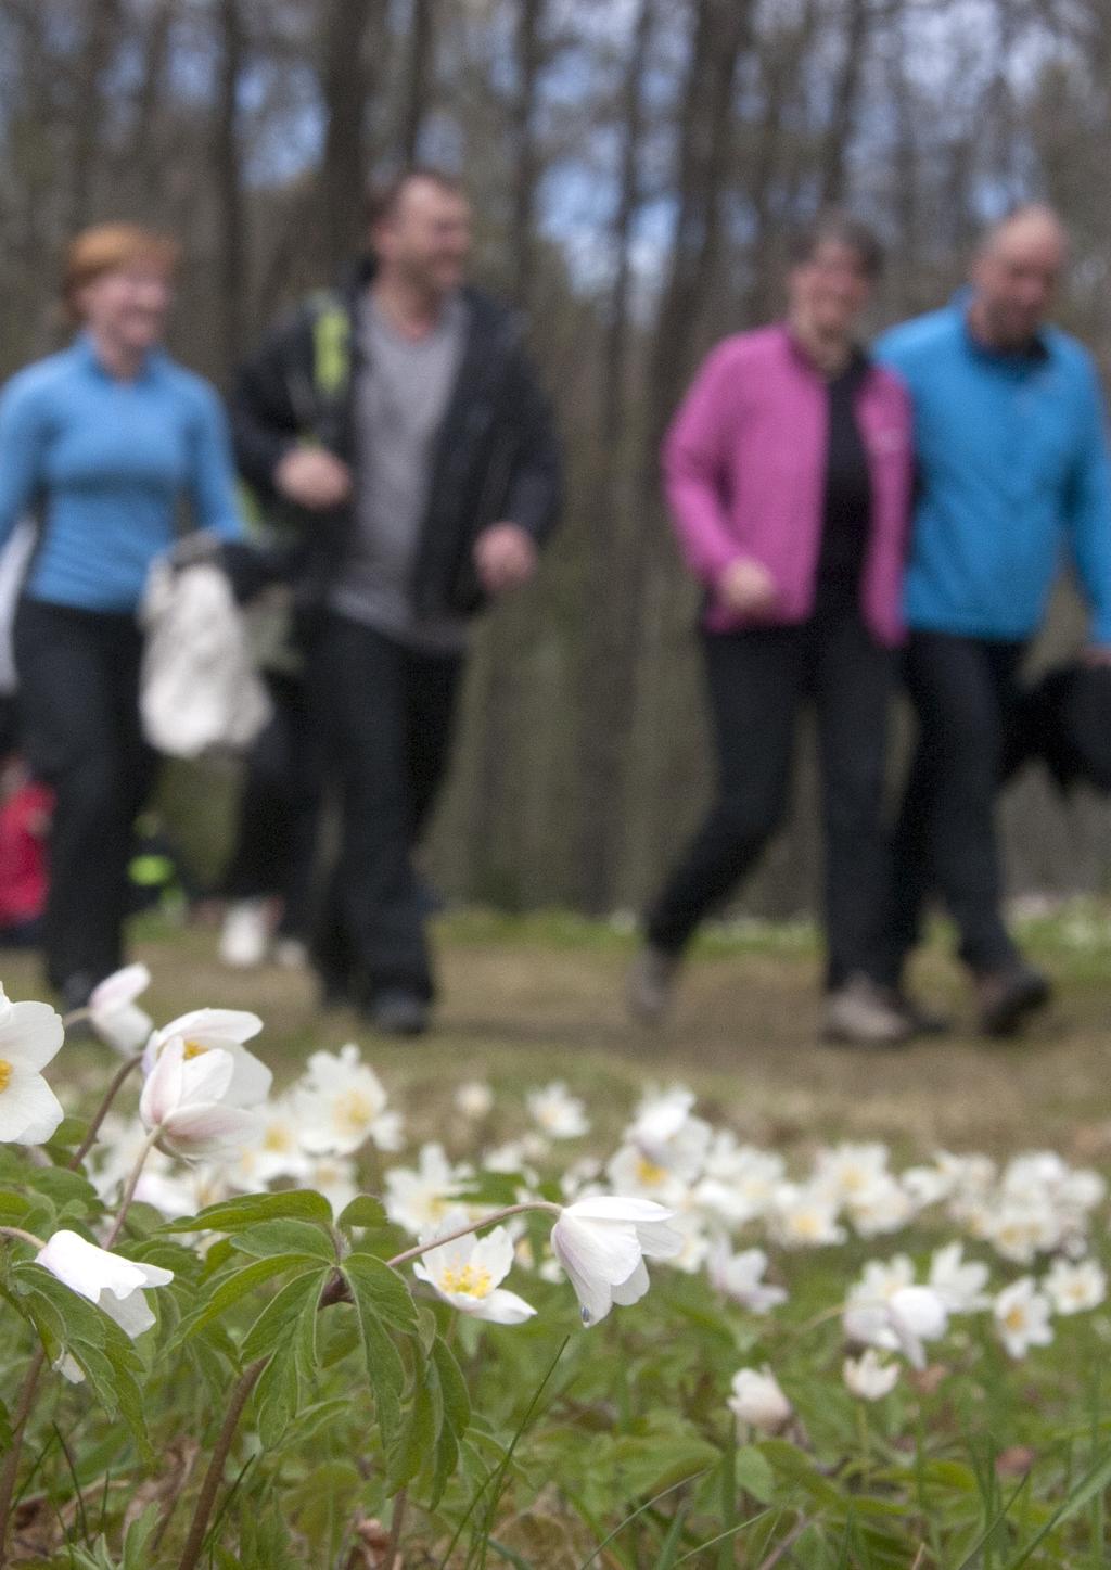
[[[60,341],[67,236],[135,217],[184,240],[174,349],[226,385],[359,246],[367,177],[414,157],[463,173],[477,276],[526,312],[570,460],[540,581],[475,639],[436,876],[629,906],[709,774],[654,458],[684,383],[775,316],[785,234],[830,201],[888,243],[876,328],[946,298],[985,220],[1053,201],[1061,320],[1111,372],[1111,5],[0,0],[0,372]],[[1065,590],[1042,656],[1081,630]],[[813,898],[807,754],[747,895],[770,915]],[[1006,810],[1014,889],[1105,885],[1105,807],[1029,780]]]

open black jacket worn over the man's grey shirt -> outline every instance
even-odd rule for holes
[[[355,529],[355,504],[328,512],[292,509],[278,496],[273,474],[292,447],[309,440],[352,465],[358,490],[355,388],[366,358],[356,320],[372,276],[373,262],[367,261],[337,294],[348,317],[350,374],[336,397],[314,386],[312,305],[264,341],[231,396],[240,474],[264,504],[297,524],[295,545],[278,571],[293,581],[306,609],[326,600]],[[518,319],[477,289],[464,289],[464,298],[466,344],[436,436],[414,560],[411,601],[419,617],[477,611],[485,598],[474,567],[479,534],[491,523],[508,521],[541,545],[560,507],[559,440]]]

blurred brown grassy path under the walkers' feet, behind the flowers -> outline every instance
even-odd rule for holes
[[[747,1140],[800,1154],[827,1138],[882,1138],[904,1159],[938,1146],[998,1156],[1055,1148],[1072,1160],[1111,1160],[1111,920],[1095,906],[1028,922],[1031,956],[1056,983],[1053,1005],[1017,1041],[979,1039],[968,989],[937,933],[916,991],[949,1010],[951,1035],[893,1052],[818,1041],[819,955],[805,926],[738,923],[692,956],[673,1019],[656,1031],[625,1013],[632,940],[566,915],[519,920],[458,914],[436,923],[443,999],[435,1030],[416,1042],[377,1038],[353,1014],[320,1013],[306,973],[224,970],[215,933],[144,923],[137,955],[152,973],[149,1010],[165,1022],[223,1005],[262,1014],[260,1053],[278,1086],[308,1052],[358,1041],[405,1112],[410,1137],[454,1145],[452,1097],[464,1080],[499,1090],[502,1119],[524,1093],[565,1079],[617,1135],[645,1083],[683,1080],[700,1110]],[[35,959],[6,955],[11,997],[44,995]],[[63,1064],[71,1063],[71,1074]],[[110,1061],[74,1047],[50,1079],[71,1104]],[[72,1088],[67,1097],[66,1091]],[[493,1138],[516,1137],[504,1121]]]

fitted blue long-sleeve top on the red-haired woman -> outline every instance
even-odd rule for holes
[[[83,611],[135,611],[187,501],[198,528],[242,532],[223,408],[212,386],[151,352],[132,382],[80,334],[0,396],[0,546],[36,512],[25,593]]]

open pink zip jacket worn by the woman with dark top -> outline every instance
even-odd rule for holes
[[[872,513],[861,612],[880,644],[899,644],[913,473],[910,399],[872,366],[857,396]],[[708,356],[664,441],[664,487],[687,565],[709,589],[711,631],[805,622],[825,498],[829,400],[785,325],[738,333]],[[778,587],[766,617],[739,617],[714,593],[723,570],[755,560]]]

